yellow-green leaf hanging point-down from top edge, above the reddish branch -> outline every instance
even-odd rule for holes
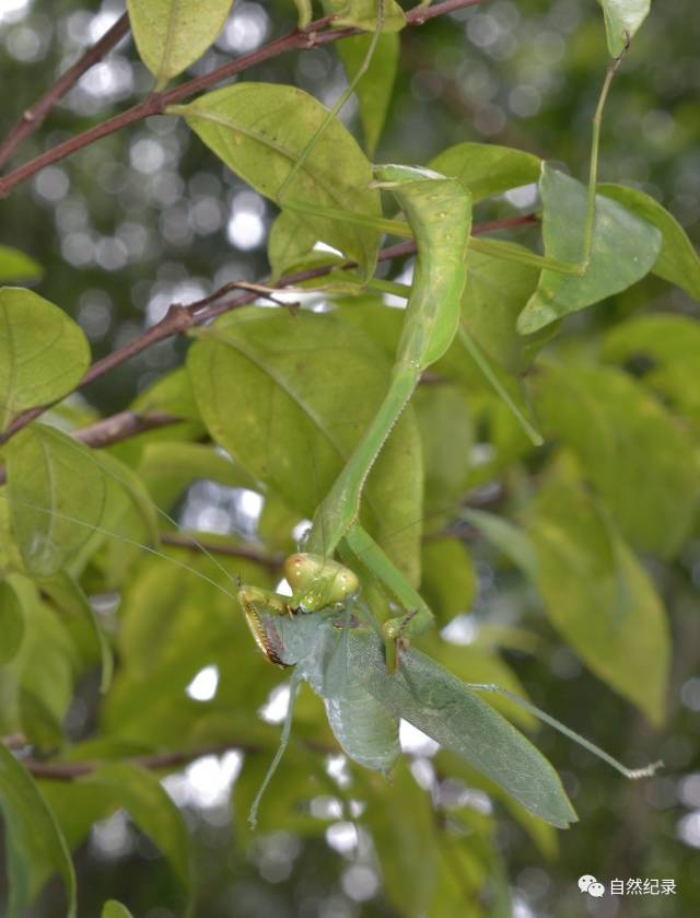
[[[162,90],[213,44],[232,0],[128,0],[129,22],[139,56]]]

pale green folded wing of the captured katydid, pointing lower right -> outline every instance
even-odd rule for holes
[[[459,755],[540,820],[559,828],[576,814],[559,776],[541,753],[463,682],[417,650],[387,672],[383,643],[372,631],[349,635],[350,678],[395,717],[404,718]]]

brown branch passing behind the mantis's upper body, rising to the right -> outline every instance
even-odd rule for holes
[[[533,223],[537,223],[537,218],[533,214],[526,214],[524,217],[509,217],[503,220],[494,220],[489,223],[477,224],[472,228],[471,232],[474,235],[482,235],[488,232],[497,232],[498,230],[512,229]],[[381,249],[377,258],[380,262],[387,262],[392,258],[401,258],[413,254],[416,254],[416,243],[402,242]],[[306,271],[296,271],[293,275],[288,275],[287,277],[281,278],[276,284],[276,289],[294,287],[295,284],[302,283],[306,280],[315,280],[316,278],[325,277],[330,274],[335,267],[337,266],[330,265],[320,268],[313,268]],[[343,268],[348,269],[353,267],[357,267],[353,262],[348,262],[343,265]],[[224,301],[223,303],[215,303],[215,301],[222,299],[222,297],[225,295],[232,287],[236,286],[237,284],[235,283],[228,283],[214,293],[211,293],[209,297],[205,297],[202,300],[197,300],[188,306],[180,306],[179,304],[174,303],[171,305],[165,316],[156,325],[153,325],[122,348],[113,351],[106,357],[103,357],[102,360],[97,360],[93,363],[75,388],[81,388],[88,383],[93,382],[93,380],[104,376],[105,373],[108,373],[121,363],[126,363],[127,360],[130,360],[132,357],[148,350],[148,348],[159,341],[172,338],[175,335],[183,335],[192,327],[203,325],[223,313],[241,309],[242,306],[248,305],[258,299],[259,293],[257,291],[249,291],[236,297],[233,300]],[[214,305],[211,305],[211,303],[214,303]],[[62,397],[65,396],[61,396],[61,398]],[[33,420],[36,420],[36,418],[40,417],[45,411],[58,404],[60,400],[60,398],[57,398],[45,405],[37,405],[35,408],[27,408],[27,410],[19,414],[12,423],[9,425],[7,430],[3,433],[0,433],[0,446],[7,443],[8,440],[10,440],[15,433],[25,428]]]

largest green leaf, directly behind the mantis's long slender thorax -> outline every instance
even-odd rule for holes
[[[383,398],[388,365],[330,315],[241,310],[202,333],[188,368],[211,437],[311,518]],[[368,479],[370,527],[413,582],[422,519],[420,441],[405,412]]]

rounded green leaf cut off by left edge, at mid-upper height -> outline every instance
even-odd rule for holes
[[[58,306],[19,287],[0,290],[0,430],[72,392],[89,367],[85,336]]]

